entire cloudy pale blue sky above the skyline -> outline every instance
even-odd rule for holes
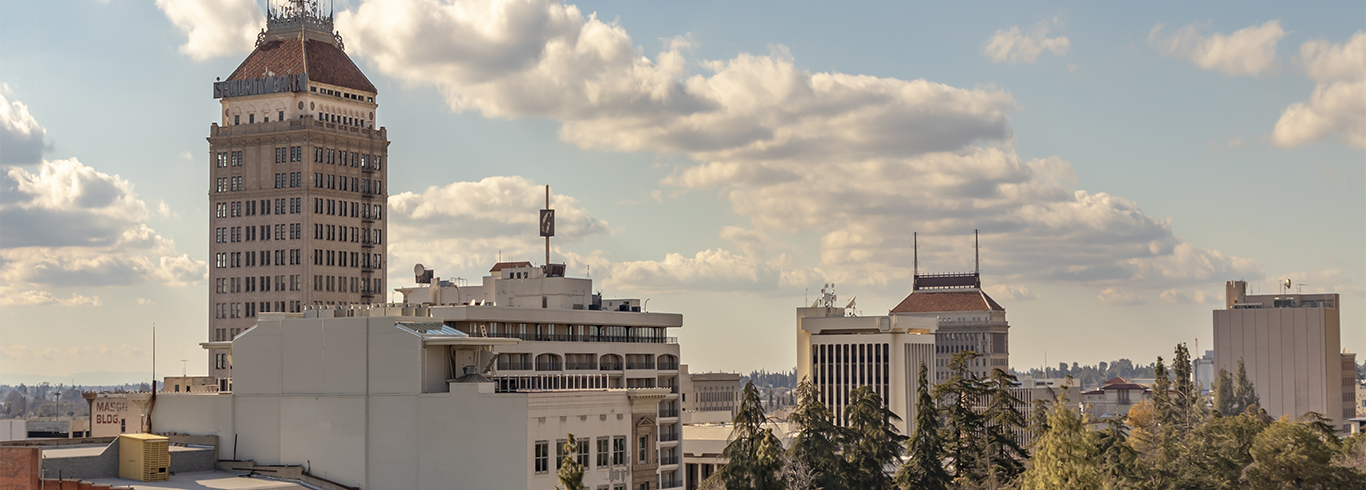
[[[788,370],[973,269],[1015,369],[1212,348],[1224,281],[1343,295],[1366,348],[1363,4],[337,0],[389,146],[389,284],[553,261],[684,315],[693,371]],[[1322,8],[1322,10],[1320,10]],[[10,1],[0,384],[202,374],[210,83],[254,0]],[[142,375],[142,374],[137,374]],[[81,382],[76,379],[76,382]]]

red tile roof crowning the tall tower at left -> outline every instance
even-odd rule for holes
[[[376,93],[374,85],[365,78],[361,68],[346,56],[340,48],[331,42],[307,40],[309,66],[303,66],[303,49],[299,49],[299,40],[275,40],[257,46],[246,60],[232,71],[228,81],[243,81],[275,75],[288,75],[307,72],[310,82],[336,85],[347,89]]]

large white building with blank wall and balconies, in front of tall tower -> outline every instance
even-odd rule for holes
[[[503,265],[486,283],[515,298],[566,284],[556,268]],[[232,392],[161,393],[156,429],[235,438],[220,459],[307,463],[363,489],[552,489],[574,434],[589,489],[682,487],[679,345],[667,336],[682,315],[496,298],[264,315],[205,345],[231,352]]]

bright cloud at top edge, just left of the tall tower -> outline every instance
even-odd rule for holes
[[[195,60],[250,52],[265,27],[254,0],[157,0],[157,8],[186,34],[180,53]]]

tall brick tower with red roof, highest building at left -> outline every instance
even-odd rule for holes
[[[388,135],[377,91],[317,0],[272,0],[255,49],[213,83],[209,373],[257,314],[384,298]]]

